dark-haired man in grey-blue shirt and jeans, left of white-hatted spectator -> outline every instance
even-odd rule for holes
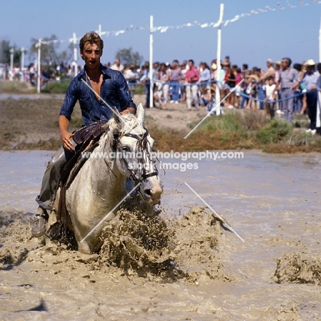
[[[276,88],[281,87],[281,106],[284,113],[284,119],[292,123],[294,110],[294,90],[300,86],[298,71],[291,68],[292,60],[283,58],[281,60],[280,79],[276,82]]]

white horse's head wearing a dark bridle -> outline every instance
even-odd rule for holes
[[[130,176],[148,204],[158,204],[163,187],[158,177],[156,162],[152,155],[154,139],[144,128],[145,110],[139,104],[135,115],[119,117],[117,112],[110,120],[112,150],[117,153],[115,161],[123,175]]]

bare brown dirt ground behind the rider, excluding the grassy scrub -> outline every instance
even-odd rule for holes
[[[15,97],[12,95],[12,97]],[[0,150],[56,150],[60,146],[58,115],[64,95],[30,95],[36,99],[0,99]],[[145,104],[141,95],[136,104]],[[154,119],[163,130],[188,132],[188,124],[206,115],[206,109],[188,111],[185,104],[169,104],[168,110],[145,108],[147,122]],[[82,126],[79,105],[75,106],[70,130]]]

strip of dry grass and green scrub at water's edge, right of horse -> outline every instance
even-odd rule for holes
[[[191,128],[197,123],[191,123]],[[156,139],[154,149],[162,152],[248,149],[268,153],[321,152],[320,135],[311,136],[281,119],[269,121],[267,115],[256,110],[209,117],[187,139],[186,133],[158,128],[152,117],[147,119],[147,128]]]

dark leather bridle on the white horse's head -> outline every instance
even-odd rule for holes
[[[145,129],[145,128],[144,128]],[[137,134],[132,134],[130,132],[128,132],[127,134],[123,134],[121,135],[120,132],[113,132],[113,139],[112,139],[112,152],[117,153],[120,152],[119,154],[122,155],[123,152],[123,147],[121,145],[121,137],[126,136],[126,137],[131,137],[133,139],[136,139],[136,149],[134,151],[136,157],[138,154],[141,154],[141,157],[139,158],[135,158],[135,162],[136,164],[144,164],[144,155],[147,156],[148,160],[150,160],[150,162],[154,165],[156,162],[154,160],[152,160],[152,155],[150,154],[149,150],[147,149],[147,144],[150,145],[150,142],[147,139],[148,136],[148,131],[147,129],[145,129],[145,133],[143,134],[143,136],[139,136]],[[152,146],[150,145],[151,150],[152,150]],[[126,164],[126,167],[128,169],[128,171],[130,171],[130,178],[132,179],[132,181],[135,183],[135,185],[143,182],[143,180],[146,180],[147,178],[150,178],[152,176],[158,176],[158,170],[156,168],[156,166],[153,166],[153,168],[155,169],[154,171],[152,171],[151,173],[147,173],[146,169],[144,166],[142,166],[141,168],[130,168],[126,158],[121,157],[121,160],[123,160],[123,162]],[[138,166],[137,166],[138,167]],[[139,174],[139,171],[143,171],[143,173],[141,175],[137,175]],[[139,177],[138,177],[139,176]]]

